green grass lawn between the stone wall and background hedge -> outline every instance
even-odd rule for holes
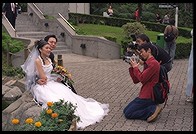
[[[96,25],[96,24],[78,24],[78,26],[74,26],[74,27],[76,29],[79,29],[79,34],[83,34],[83,35],[115,37],[117,39],[118,44],[121,44],[121,41],[124,38],[123,29],[121,27]],[[160,32],[146,30],[145,34],[149,36],[152,42],[156,42],[157,35],[160,34]],[[176,42],[177,43],[191,42],[191,39],[187,39],[182,36],[179,36]]]

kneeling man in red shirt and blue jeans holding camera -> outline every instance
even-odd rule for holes
[[[152,55],[150,42],[138,47],[144,62],[144,69],[140,71],[139,63],[130,60],[129,73],[134,84],[141,82],[139,96],[131,101],[123,110],[127,119],[146,120],[148,123],[156,120],[162,108],[155,104],[153,86],[159,81],[160,64]]]

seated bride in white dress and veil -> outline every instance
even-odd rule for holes
[[[78,128],[83,129],[100,122],[108,114],[109,104],[101,104],[92,98],[83,98],[73,93],[69,87],[55,81],[51,76],[53,66],[48,57],[50,52],[50,45],[46,41],[35,42],[35,47],[21,66],[26,73],[27,90],[30,90],[34,98],[43,104],[43,108],[47,107],[47,102],[57,102],[60,99],[76,105],[75,114],[80,117],[80,121],[77,122]],[[37,84],[35,75],[46,80],[46,84]]]

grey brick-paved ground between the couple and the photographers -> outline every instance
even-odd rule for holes
[[[63,63],[72,73],[78,94],[110,105],[109,114],[101,122],[79,131],[193,131],[193,104],[185,102],[188,59],[174,61],[169,72],[171,91],[167,105],[153,123],[127,120],[122,114],[141,86],[133,84],[129,65],[122,59],[102,60],[65,54]]]

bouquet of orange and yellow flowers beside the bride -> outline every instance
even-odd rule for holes
[[[71,73],[69,73],[64,67],[56,65],[51,72],[52,74],[56,74],[57,81],[61,81],[64,84],[73,84],[74,81],[71,79]]]

